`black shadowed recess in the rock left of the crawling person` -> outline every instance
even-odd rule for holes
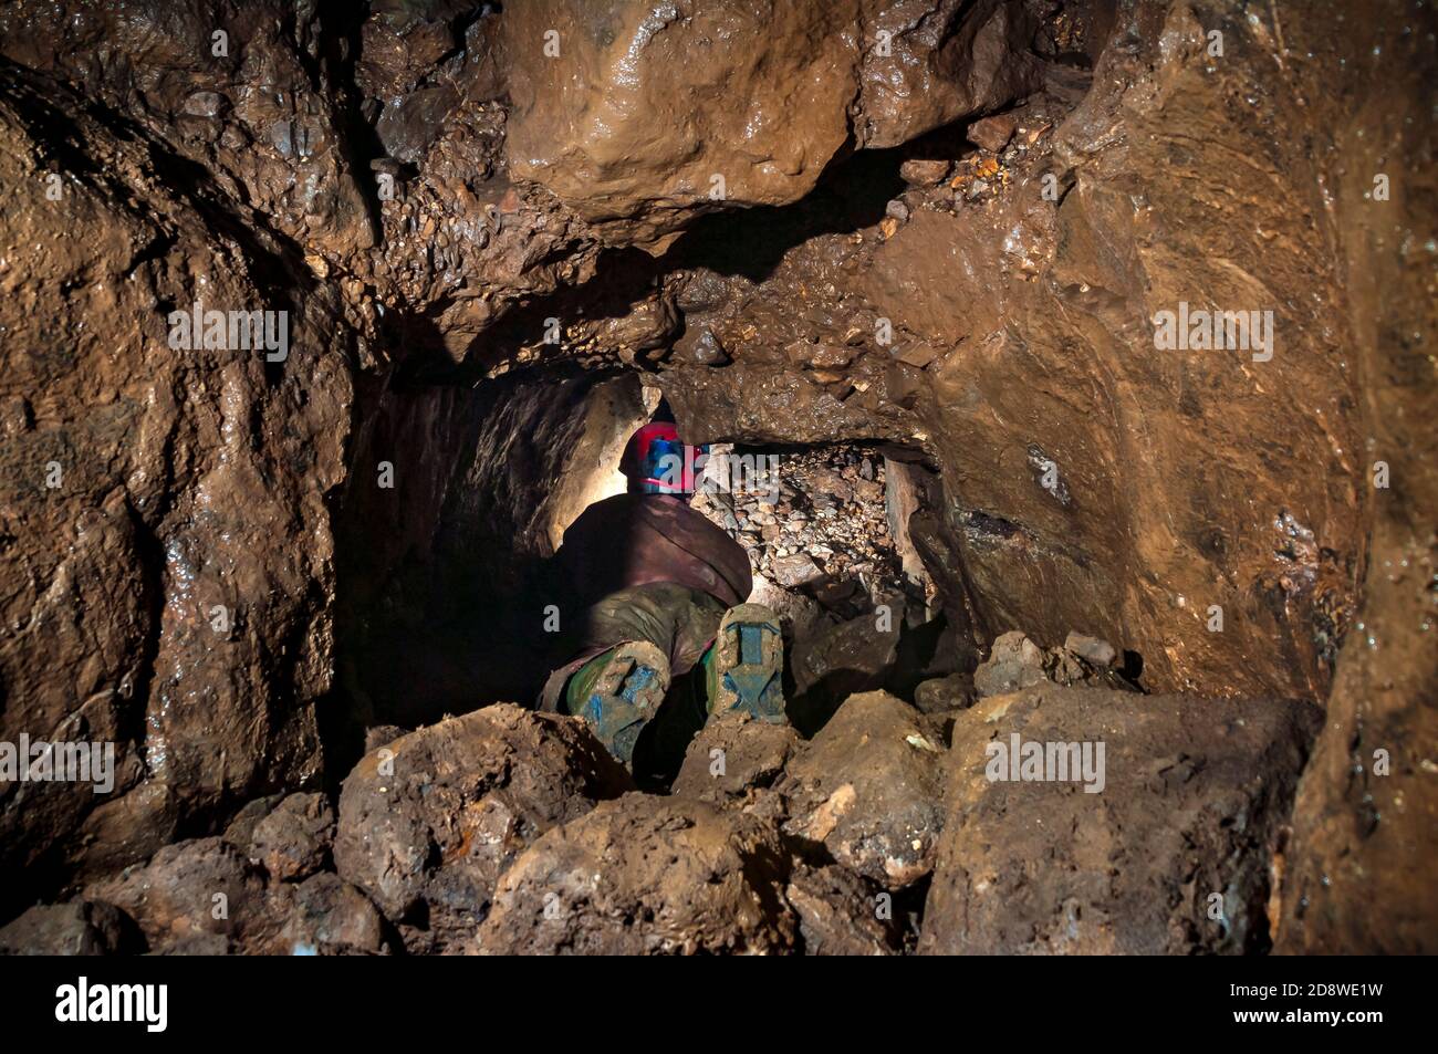
[[[380,380],[361,393],[365,424],[335,513],[326,771],[349,769],[367,728],[533,702],[552,661],[546,605],[564,595],[545,503],[601,380],[549,368],[479,390]]]

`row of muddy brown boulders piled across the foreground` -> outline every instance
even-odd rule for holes
[[[719,716],[669,794],[633,791],[577,719],[450,718],[365,756],[338,820],[322,794],[262,799],[224,837],[32,907],[0,952],[1270,948],[1316,707],[1093,687],[1022,634],[995,653],[979,680],[1024,686],[975,702],[966,676],[933,679],[928,712],[851,695],[808,741]],[[994,762],[1011,741],[1037,766]],[[1071,768],[1044,768],[1054,745]]]

